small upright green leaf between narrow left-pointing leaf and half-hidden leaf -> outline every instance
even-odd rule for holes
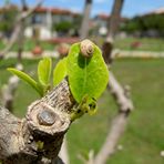
[[[42,59],[38,64],[38,78],[42,85],[49,85],[51,75],[52,60],[51,58]]]

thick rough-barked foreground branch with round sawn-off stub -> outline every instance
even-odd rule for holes
[[[63,80],[33,102],[22,120],[0,107],[0,160],[4,164],[61,163],[58,154],[74,104],[68,81]]]

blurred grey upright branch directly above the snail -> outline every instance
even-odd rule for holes
[[[89,21],[90,21],[90,12],[92,7],[92,0],[85,0],[84,11],[83,11],[83,20],[80,30],[80,39],[83,40],[89,34]]]

